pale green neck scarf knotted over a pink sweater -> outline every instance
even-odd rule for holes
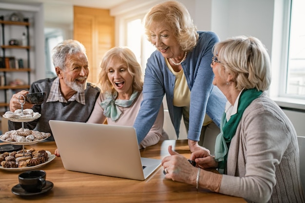
[[[118,107],[130,107],[137,95],[138,91],[133,91],[133,94],[130,96],[129,100],[115,100],[117,97],[117,92],[114,92],[114,94],[108,94],[106,99],[100,103],[101,107],[104,109],[104,115],[111,118],[111,120],[116,121],[122,113]]]

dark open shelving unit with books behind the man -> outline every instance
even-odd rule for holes
[[[1,49],[2,49],[2,55],[0,57],[3,57],[3,61],[4,58],[6,57],[6,51],[7,50],[12,50],[12,49],[23,49],[26,51],[27,53],[27,64],[24,64],[24,66],[26,65],[25,68],[20,68],[20,69],[13,69],[13,68],[9,68],[9,67],[0,67],[0,73],[3,73],[3,80],[4,80],[4,85],[0,86],[0,90],[2,90],[0,92],[0,94],[4,94],[4,102],[0,102],[0,107],[5,107],[6,111],[7,111],[7,107],[9,106],[9,100],[11,98],[7,98],[7,91],[9,90],[19,90],[19,89],[29,89],[30,88],[30,73],[31,73],[31,68],[30,68],[30,46],[29,46],[29,26],[30,23],[29,22],[23,22],[23,21],[8,21],[8,20],[3,20],[0,19],[0,24],[1,24],[1,28],[2,28],[2,33],[1,33],[1,38],[2,38],[2,43],[1,43]],[[19,45],[7,45],[5,43],[5,26],[25,26],[26,28],[26,36],[27,36],[27,46],[19,46]],[[8,85],[8,81],[7,81],[7,73],[10,74],[14,74],[14,73],[27,73],[27,85],[18,85],[18,86],[11,86]]]

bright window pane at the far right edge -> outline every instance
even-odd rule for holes
[[[289,97],[305,98],[305,0],[292,0],[290,12],[286,89]]]

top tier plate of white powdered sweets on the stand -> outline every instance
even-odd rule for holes
[[[34,112],[32,109],[25,109],[23,111],[18,109],[14,112],[6,111],[2,116],[13,122],[30,122],[38,119],[41,114]]]

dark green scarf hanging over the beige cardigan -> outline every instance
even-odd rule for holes
[[[215,160],[218,161],[218,172],[225,172],[231,139],[235,135],[245,109],[262,93],[262,91],[256,89],[244,90],[239,97],[237,113],[230,117],[229,122],[227,122],[224,112],[220,123],[220,133],[217,135],[215,142]]]

